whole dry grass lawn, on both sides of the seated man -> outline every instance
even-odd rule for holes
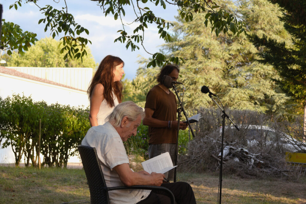
[[[218,174],[177,174],[191,184],[197,203],[218,202]],[[298,181],[223,176],[222,203],[306,203],[306,178]],[[74,202],[73,202],[74,201]],[[0,203],[89,203],[83,169],[0,166]]]

